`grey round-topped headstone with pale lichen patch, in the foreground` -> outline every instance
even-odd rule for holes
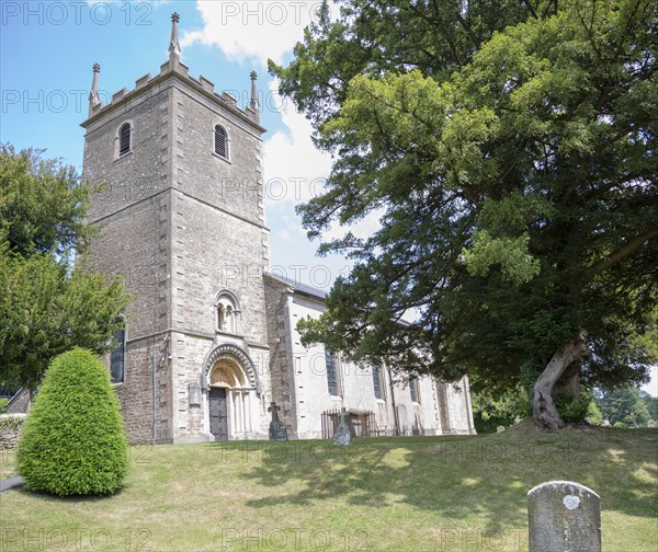
[[[601,552],[601,498],[574,481],[527,492],[530,552]]]

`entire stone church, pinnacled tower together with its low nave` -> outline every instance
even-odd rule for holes
[[[356,367],[296,322],[325,292],[266,273],[257,76],[245,107],[169,59],[104,105],[93,67],[83,176],[103,182],[89,210],[101,227],[88,263],[134,295],[122,345],[107,355],[129,439],[266,439],[270,404],[295,439],[333,435],[345,407],[356,436],[475,433],[468,381]]]

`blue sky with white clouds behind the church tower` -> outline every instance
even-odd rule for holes
[[[266,59],[288,61],[303,30],[316,16],[317,0],[63,0],[0,2],[0,142],[45,149],[82,169],[83,129],[93,64],[101,65],[101,100],[150,72],[168,58],[172,12],[180,14],[182,60],[215,90],[248,101],[249,73],[259,73],[264,135],[265,198],[272,267],[288,277],[329,289],[349,263],[318,258],[295,205],[322,185],[328,156],[310,142],[311,128],[276,94]],[[356,234],[377,227],[367,217]],[[328,237],[342,233],[333,228]],[[658,395],[658,376],[645,390]]]

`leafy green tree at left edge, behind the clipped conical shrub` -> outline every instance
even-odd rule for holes
[[[83,269],[80,253],[70,266],[71,248],[93,233],[82,222],[91,192],[70,168],[0,150],[1,379],[12,386],[35,389],[73,346],[111,349],[125,323],[131,298],[121,280]]]

